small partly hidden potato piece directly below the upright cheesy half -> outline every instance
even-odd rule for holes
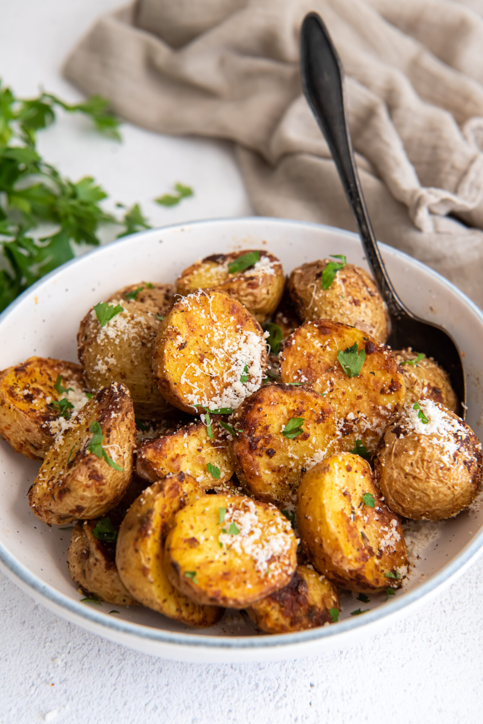
[[[219,424],[221,416],[213,415],[211,430],[213,439],[208,437],[205,424],[192,422],[176,432],[142,442],[137,446],[136,472],[142,478],[156,481],[169,473],[181,470],[193,476],[202,488],[223,485],[234,473],[228,435]],[[218,468],[220,478],[215,479],[208,472],[207,465]]]

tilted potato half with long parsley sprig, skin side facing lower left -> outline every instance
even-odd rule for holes
[[[127,387],[99,390],[46,453],[28,492],[35,515],[60,525],[114,508],[129,486],[135,436]]]

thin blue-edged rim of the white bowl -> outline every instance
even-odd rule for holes
[[[323,229],[344,237],[359,239],[359,235],[355,234],[354,232],[350,232],[344,229],[338,229],[336,227],[330,227],[326,224],[316,224],[315,222],[299,222],[293,219],[279,219],[272,216],[244,216],[234,218],[228,217],[226,219],[202,219],[200,221],[186,222],[184,224],[171,224],[170,226],[161,227],[159,229],[149,229],[137,232],[136,234],[132,234],[127,237],[122,237],[115,243],[122,244],[129,240],[132,240],[133,237],[148,236],[153,234],[153,232],[163,232],[164,230],[174,230],[176,228],[179,228],[179,230],[185,230],[187,229],[187,227],[192,227],[195,225],[200,226],[202,224],[226,223],[236,224],[237,222],[260,222],[261,224],[270,222],[281,225],[293,224],[297,227],[311,227]],[[417,261],[417,259],[412,258],[403,251],[399,251],[398,249],[388,246],[387,244],[379,244],[382,250],[385,249],[390,253],[395,253],[396,256],[406,258],[411,264],[416,264],[416,266],[419,266],[427,274],[437,279],[437,281],[447,287],[450,292],[459,297],[466,306],[471,308],[471,310],[476,313],[476,316],[479,316],[479,319],[481,319],[483,322],[482,311],[479,310],[476,304],[474,304],[474,302],[472,302],[471,299],[466,296],[466,294],[461,292],[458,287],[455,287],[455,285],[449,282],[448,279],[445,279],[445,277],[442,277],[440,274],[437,273],[437,271],[434,271],[429,266],[426,266],[426,264],[422,264],[421,261]],[[91,254],[98,253],[105,249],[106,246],[107,245],[96,247],[95,249],[93,249],[93,251],[87,252],[87,254],[90,256]],[[17,299],[15,299],[7,307],[7,309],[0,313],[0,324],[4,320],[4,318],[7,317],[7,315],[12,311],[12,309],[22,302],[25,296],[30,295],[36,288],[40,287],[40,285],[43,285],[46,281],[48,281],[48,279],[51,279],[52,277],[55,277],[56,274],[64,271],[66,267],[75,264],[79,258],[82,257],[77,257],[72,259],[71,261],[67,261],[66,264],[62,264],[62,266],[57,267],[57,269],[51,271],[50,274],[46,274],[45,277],[39,279],[39,281],[35,282],[34,285],[28,287],[25,292],[22,292],[22,294],[17,297]],[[20,578],[20,581],[26,584],[29,588],[33,589],[33,591],[38,593],[41,597],[44,597],[55,605],[63,609],[67,609],[70,613],[73,613],[80,618],[84,618],[90,623],[95,623],[98,626],[102,626],[103,628],[112,629],[113,631],[119,631],[119,633],[124,633],[128,636],[149,639],[150,641],[156,643],[178,644],[183,647],[206,647],[210,649],[266,649],[273,647],[280,648],[284,646],[293,646],[294,644],[302,644],[305,641],[314,641],[317,639],[325,639],[330,636],[338,636],[338,634],[340,633],[354,631],[355,629],[362,626],[368,626],[370,623],[375,623],[375,621],[377,620],[387,618],[388,616],[397,613],[402,608],[410,607],[411,604],[414,604],[419,599],[427,596],[427,594],[435,591],[438,586],[443,584],[445,581],[448,581],[449,578],[458,573],[458,571],[460,571],[461,568],[463,568],[463,566],[468,563],[469,560],[471,560],[471,558],[476,557],[476,553],[478,553],[482,547],[483,527],[479,531],[479,533],[474,536],[474,539],[466,544],[466,546],[454,558],[454,560],[441,568],[441,570],[435,573],[433,576],[430,576],[427,581],[424,581],[423,584],[419,584],[418,586],[416,586],[413,591],[396,597],[396,599],[388,602],[388,604],[382,604],[375,609],[370,610],[367,614],[364,614],[363,617],[359,618],[358,616],[352,619],[345,619],[339,621],[333,626],[322,626],[320,628],[310,628],[308,631],[273,634],[271,636],[205,636],[195,633],[182,633],[179,631],[163,631],[162,629],[153,628],[153,626],[143,626],[140,623],[129,623],[129,621],[125,621],[123,619],[108,618],[108,614],[90,610],[85,605],[81,605],[80,602],[72,601],[72,599],[69,599],[69,597],[59,593],[56,589],[54,589],[53,586],[49,586],[48,584],[43,583],[40,578],[35,576],[33,573],[30,573],[30,571],[27,571],[24,566],[19,563],[13,555],[10,554],[9,551],[1,543],[0,561],[4,564],[8,571],[13,573],[15,577]]]

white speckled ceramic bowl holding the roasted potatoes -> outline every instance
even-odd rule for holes
[[[149,230],[104,246],[69,262],[30,287],[0,316],[0,369],[31,355],[75,361],[76,332],[90,306],[140,279],[173,282],[195,259],[215,252],[267,248],[294,266],[328,254],[346,254],[366,266],[359,237],[317,224],[282,219],[221,219]],[[382,245],[390,278],[401,298],[424,319],[443,324],[464,353],[468,390],[467,421],[482,438],[483,315],[450,282],[427,266]],[[444,363],[444,360],[440,362]],[[388,603],[372,597],[370,610],[351,617],[361,604],[343,599],[339,623],[300,633],[256,635],[239,615],[197,631],[145,608],[109,615],[111,605],[81,603],[67,571],[70,531],[40,523],[27,504],[38,464],[0,442],[0,560],[25,592],[63,618],[134,649],[176,660],[242,662],[319,654],[341,649],[380,631],[461,574],[483,546],[483,510],[444,523],[424,552],[417,576]]]

